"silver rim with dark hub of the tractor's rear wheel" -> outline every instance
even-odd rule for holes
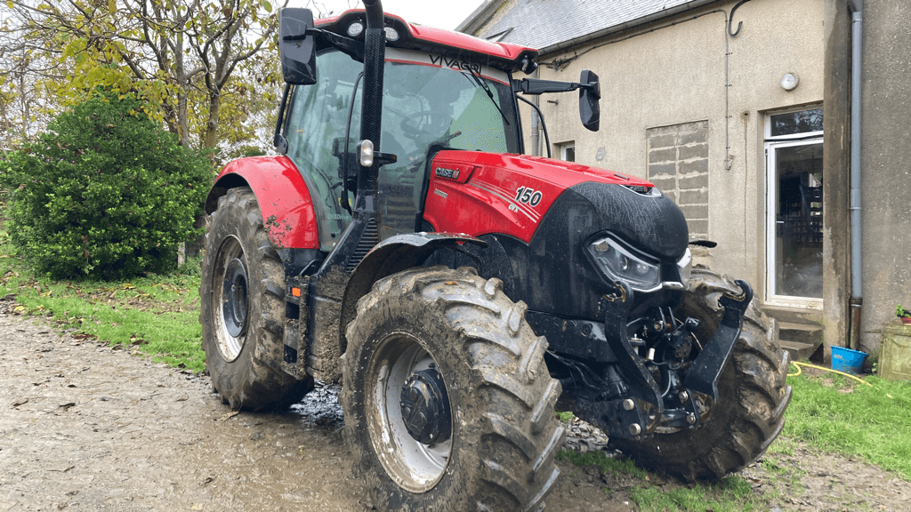
[[[250,299],[247,267],[241,241],[229,236],[221,243],[212,273],[212,313],[221,357],[231,362],[241,355],[247,337]]]

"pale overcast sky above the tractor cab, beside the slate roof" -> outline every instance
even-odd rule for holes
[[[462,0],[440,2],[439,0],[382,0],[383,10],[392,15],[399,15],[405,21],[437,28],[455,29],[468,15],[475,12],[483,0]],[[363,8],[355,0],[291,0],[289,7],[311,7],[322,13],[339,14],[349,8]]]

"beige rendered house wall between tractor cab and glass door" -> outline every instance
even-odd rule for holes
[[[734,13],[732,26],[736,29],[742,22],[741,31],[732,37],[727,16],[734,4],[708,5],[586,46],[542,55],[541,78],[578,80],[586,68],[599,74],[598,132],[581,128],[577,94],[544,96],[540,105],[552,146],[575,141],[579,163],[641,178],[667,178],[660,166],[674,169],[672,182],[655,179],[661,189],[679,184],[681,173],[694,173],[690,177],[696,178],[695,185],[689,191],[707,196],[707,205],[700,206],[699,194],[684,197],[681,191],[677,199],[697,201],[690,203],[692,208],[684,207],[685,212],[695,219],[707,213],[707,238],[719,243],[697,262],[747,279],[762,298],[763,115],[823,102],[824,0],[743,4]],[[544,65],[575,55],[578,58],[565,67]],[[792,92],[780,86],[788,72],[800,77]],[[525,119],[527,132],[530,118]],[[687,142],[677,136],[671,141],[667,133],[680,131],[675,127],[705,127],[705,140]],[[667,149],[674,146],[676,159],[670,159]],[[697,161],[703,157],[707,161]],[[684,169],[689,164],[698,165]],[[691,221],[692,231],[700,232],[701,227],[701,222]]]

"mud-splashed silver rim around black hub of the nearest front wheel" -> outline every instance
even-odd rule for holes
[[[367,374],[372,387],[365,404],[366,422],[374,453],[386,474],[413,493],[426,492],[439,482],[452,449],[453,435],[433,444],[419,442],[409,433],[402,415],[402,394],[409,378],[435,366],[434,358],[414,336],[393,333],[380,343]],[[447,426],[452,429],[452,422]]]

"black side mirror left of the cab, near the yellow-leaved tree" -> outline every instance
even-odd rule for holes
[[[308,28],[313,28],[310,9],[284,8],[279,11],[281,75],[285,82],[295,86],[316,83],[316,52],[313,36],[307,36]]]

